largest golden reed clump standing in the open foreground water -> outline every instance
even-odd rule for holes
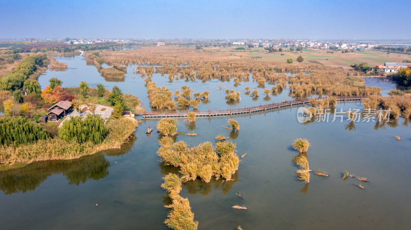
[[[157,154],[160,159],[179,167],[182,181],[200,178],[208,183],[213,176],[230,180],[238,170],[239,159],[234,153],[235,144],[231,141],[218,142],[216,147],[204,142],[192,148],[184,141],[173,143],[170,137],[163,137],[159,143]]]

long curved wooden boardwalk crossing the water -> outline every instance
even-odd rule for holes
[[[194,111],[196,113],[196,117],[217,117],[217,116],[233,116],[233,115],[241,115],[241,114],[252,114],[258,112],[265,112],[268,110],[276,110],[276,109],[283,109],[286,107],[292,107],[296,105],[303,105],[309,103],[307,99],[299,99],[299,100],[290,100],[290,101],[283,101],[283,102],[276,102],[271,104],[263,104],[260,106],[254,107],[245,107],[241,109],[227,109],[227,110],[208,110],[208,111]],[[315,97],[316,101],[323,100],[324,97]],[[347,97],[335,97],[337,101],[357,101],[362,100],[364,97],[361,96],[347,96]],[[187,112],[177,112],[177,111],[165,111],[165,112],[134,112],[135,115],[141,115],[144,119],[149,118],[163,118],[163,117],[171,117],[171,118],[179,118],[179,117],[186,117]]]

